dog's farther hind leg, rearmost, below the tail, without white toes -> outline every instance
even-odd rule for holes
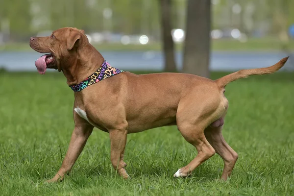
[[[207,127],[204,130],[205,137],[211,144],[211,146],[216,150],[216,152],[221,156],[224,162],[224,168],[221,175],[223,180],[231,175],[231,172],[235,166],[238,159],[238,154],[235,152],[224,140],[221,134],[222,126],[220,127]]]

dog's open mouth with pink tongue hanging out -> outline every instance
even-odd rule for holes
[[[45,74],[47,68],[57,69],[57,61],[52,54],[44,54],[35,61],[35,65],[40,74]]]

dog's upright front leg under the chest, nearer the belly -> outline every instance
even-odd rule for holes
[[[123,162],[123,153],[126,144],[127,130],[109,130],[110,137],[110,160],[114,169],[123,177],[128,178],[128,174],[124,167],[126,163]]]

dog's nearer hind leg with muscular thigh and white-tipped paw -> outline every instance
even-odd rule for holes
[[[209,93],[202,93],[199,96],[197,92]],[[207,141],[204,129],[223,115],[225,103],[219,89],[213,85],[199,86],[194,91],[192,89],[186,97],[180,100],[176,113],[177,127],[182,136],[196,147],[198,154],[187,166],[179,169],[173,175],[174,177],[188,176],[196,167],[216,153]]]

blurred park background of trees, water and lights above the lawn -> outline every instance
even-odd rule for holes
[[[65,26],[84,29],[105,59],[125,70],[209,77],[292,56],[294,0],[193,1],[1,0],[0,69],[36,71],[40,54],[29,37]],[[284,70],[294,70],[291,58]]]

